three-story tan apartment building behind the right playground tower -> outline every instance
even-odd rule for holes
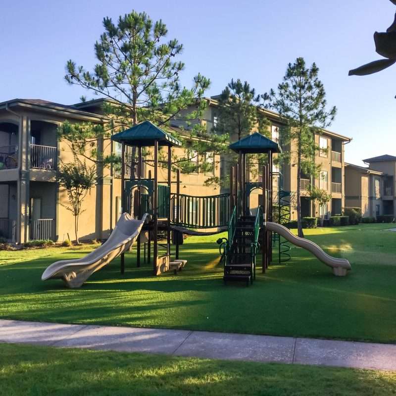
[[[216,97],[205,98],[207,106],[203,114],[202,120],[206,125],[208,131],[212,130],[217,123],[216,107],[218,102]],[[262,110],[267,119],[270,121],[269,134],[271,139],[279,142],[279,128],[282,126],[281,117],[278,113],[270,110]],[[252,130],[254,132],[254,130]],[[318,177],[310,180],[306,175],[301,174],[300,190],[301,190],[301,214],[302,216],[316,216],[322,214],[325,218],[330,215],[341,214],[345,207],[345,145],[350,143],[351,138],[337,134],[335,132],[323,129],[321,134],[315,135],[315,142],[321,148],[315,155],[315,163],[321,165],[321,171]],[[291,146],[284,147],[291,152],[296,151],[296,143],[291,142]],[[224,175],[227,172],[225,167],[228,166],[227,162],[220,163],[220,174]],[[297,157],[291,156],[289,164],[274,165],[274,172],[282,174],[280,177],[274,177],[273,188],[274,192],[277,191],[278,186],[283,190],[291,192],[291,218],[297,219]],[[251,181],[252,176],[250,175]],[[326,190],[331,195],[331,201],[325,207],[318,207],[309,199],[308,187],[313,185],[320,189]],[[261,192],[254,192],[259,197]],[[276,194],[274,194],[276,197]],[[259,199],[259,198],[258,198]],[[258,202],[257,198],[253,198],[251,202]],[[251,208],[254,210],[254,208]]]

